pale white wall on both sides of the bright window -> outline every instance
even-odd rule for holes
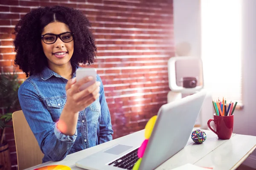
[[[256,0],[242,2],[244,108],[234,114],[233,132],[256,136]],[[176,55],[201,57],[200,0],[174,0],[173,6]],[[253,157],[256,158],[256,151]]]

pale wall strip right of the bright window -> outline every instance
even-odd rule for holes
[[[256,0],[243,0],[242,2],[244,109],[236,111],[234,132],[256,136]]]

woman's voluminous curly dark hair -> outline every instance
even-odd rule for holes
[[[74,33],[74,53],[71,63],[88,65],[95,62],[97,48],[91,23],[85,15],[76,9],[53,6],[39,7],[27,13],[15,26],[15,66],[26,73],[26,77],[40,73],[47,65],[41,45],[41,33],[45,26],[52,22],[61,22],[69,26]]]

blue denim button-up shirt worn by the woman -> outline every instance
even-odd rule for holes
[[[77,69],[78,65],[74,65]],[[76,71],[73,74],[76,77]],[[45,67],[40,74],[26,79],[18,97],[26,120],[44,153],[43,163],[60,161],[68,154],[112,140],[112,125],[102,80],[99,98],[79,111],[76,133],[67,136],[56,127],[67,100],[67,79]]]

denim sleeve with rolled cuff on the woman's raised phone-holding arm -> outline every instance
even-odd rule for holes
[[[18,97],[21,109],[41,151],[52,161],[64,159],[76,140],[77,131],[73,136],[66,136],[58,130],[31,82],[23,82]]]

